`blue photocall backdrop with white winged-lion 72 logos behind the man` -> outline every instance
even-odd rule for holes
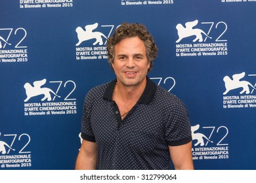
[[[196,169],[256,168],[255,0],[1,0],[0,167],[74,169],[106,39],[146,25],[154,82],[184,101]]]

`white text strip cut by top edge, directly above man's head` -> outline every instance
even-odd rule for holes
[[[150,0],[150,1],[139,1],[139,0],[121,0],[121,5],[172,5],[174,0]]]

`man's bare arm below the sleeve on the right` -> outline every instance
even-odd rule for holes
[[[192,160],[192,142],[188,142],[181,146],[169,146],[169,152],[175,170],[194,169]]]

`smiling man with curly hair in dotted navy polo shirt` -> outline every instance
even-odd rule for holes
[[[116,80],[87,93],[75,169],[194,169],[184,104],[147,77],[158,48],[144,25],[107,42]]]

